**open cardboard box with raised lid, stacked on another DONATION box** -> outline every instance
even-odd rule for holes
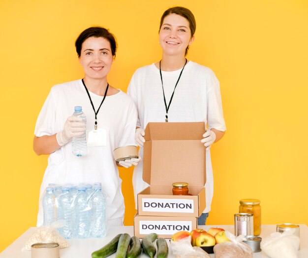
[[[204,122],[148,123],[138,215],[199,217],[205,209]],[[172,195],[172,183],[187,182],[192,195]]]

